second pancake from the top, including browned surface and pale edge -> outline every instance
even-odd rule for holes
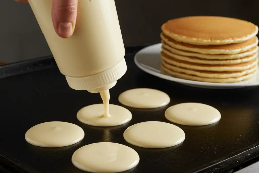
[[[160,34],[161,39],[175,49],[197,52],[201,54],[237,54],[250,50],[258,45],[258,38],[253,37],[241,43],[232,43],[227,45],[191,45],[175,41],[167,37],[165,34]]]

